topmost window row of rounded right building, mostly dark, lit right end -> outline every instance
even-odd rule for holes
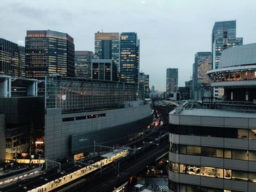
[[[193,135],[203,137],[225,137],[233,139],[256,139],[256,128],[230,128],[210,126],[170,125],[171,134]]]

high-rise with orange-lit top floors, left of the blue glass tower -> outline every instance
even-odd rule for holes
[[[118,75],[120,73],[120,39],[119,33],[95,33],[94,58],[112,59],[116,64]]]

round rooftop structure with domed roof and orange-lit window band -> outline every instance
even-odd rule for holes
[[[208,71],[211,86],[224,88],[228,101],[256,102],[256,43],[224,50],[219,69]]]

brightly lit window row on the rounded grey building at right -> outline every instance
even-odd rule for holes
[[[223,169],[212,166],[197,166],[170,163],[170,171],[181,174],[192,174],[202,177],[214,177],[226,180],[250,181],[256,183],[256,172],[246,172],[234,169]]]

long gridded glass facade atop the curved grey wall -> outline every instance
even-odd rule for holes
[[[69,77],[46,77],[46,108],[62,112],[80,112],[121,107],[124,101],[136,100],[137,86],[124,82],[87,80]]]

